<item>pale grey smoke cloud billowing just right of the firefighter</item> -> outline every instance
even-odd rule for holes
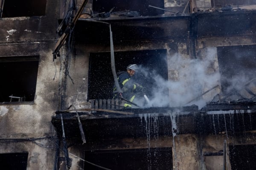
[[[214,93],[209,92],[208,97],[206,94],[204,98],[193,100],[219,84],[216,48],[208,48],[205,56],[200,59],[189,59],[176,53],[167,63],[169,80],[152,69],[140,66],[140,74],[147,79],[143,79],[142,84],[146,84],[145,94],[150,100],[145,107],[179,107],[195,104],[201,108],[217,94],[214,89]],[[193,101],[189,102],[191,100]]]

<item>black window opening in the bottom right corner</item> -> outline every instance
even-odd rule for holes
[[[256,145],[230,145],[231,170],[256,170]]]

